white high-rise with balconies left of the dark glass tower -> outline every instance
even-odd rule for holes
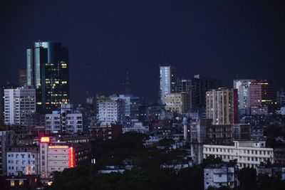
[[[24,126],[26,115],[36,112],[36,90],[31,86],[4,89],[4,123]]]

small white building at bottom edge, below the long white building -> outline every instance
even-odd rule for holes
[[[204,168],[204,189],[210,186],[219,188],[227,186],[234,189],[237,186],[236,170],[234,165],[213,164]]]

